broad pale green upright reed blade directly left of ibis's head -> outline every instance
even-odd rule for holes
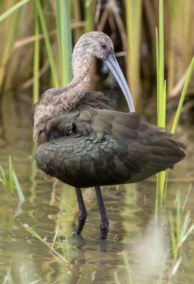
[[[56,1],[57,37],[62,85],[72,80],[72,30],[69,1]]]

